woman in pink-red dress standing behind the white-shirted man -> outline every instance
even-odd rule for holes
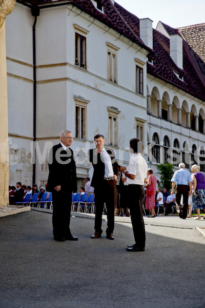
[[[156,184],[157,184],[157,178],[153,175],[153,170],[151,168],[147,171],[148,178],[146,181],[145,188],[147,188],[147,194],[146,194],[146,202],[145,202],[145,208],[147,210],[151,211],[150,216],[148,217],[155,217],[155,196],[156,196]],[[151,193],[149,191],[152,191]],[[148,194],[151,196],[148,196]]]

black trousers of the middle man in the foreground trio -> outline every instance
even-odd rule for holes
[[[115,180],[103,180],[101,185],[95,187],[95,232],[103,233],[102,215],[104,203],[107,207],[108,227],[107,234],[113,233],[114,230],[114,208],[117,200],[117,189]]]

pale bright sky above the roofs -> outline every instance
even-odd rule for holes
[[[205,23],[205,0],[116,0],[138,18],[150,18],[172,28]]]

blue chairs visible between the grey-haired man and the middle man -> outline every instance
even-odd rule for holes
[[[77,194],[72,194],[71,211],[73,212],[76,211],[77,213],[94,214],[95,211],[94,194],[88,195],[88,192],[85,192],[84,195],[80,195],[80,192],[77,192]]]

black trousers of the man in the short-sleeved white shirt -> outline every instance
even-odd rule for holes
[[[135,246],[145,248],[145,223],[142,217],[142,200],[145,189],[142,185],[128,185],[130,216],[135,239]]]

